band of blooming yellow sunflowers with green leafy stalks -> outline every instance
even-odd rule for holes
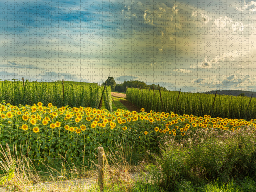
[[[60,155],[95,158],[92,153],[100,145],[106,151],[115,148],[115,142],[131,145],[134,154],[147,150],[159,152],[161,138],[169,136],[181,140],[196,129],[218,132],[238,132],[244,127],[254,135],[256,119],[212,118],[204,115],[177,115],[173,112],[159,113],[91,107],[46,106],[42,102],[32,106],[1,104],[1,145],[13,147],[31,159],[57,158]],[[59,155],[60,154],[60,155]],[[88,157],[88,158],[87,158]]]

